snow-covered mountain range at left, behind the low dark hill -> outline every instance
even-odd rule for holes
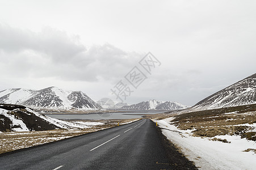
[[[0,92],[0,103],[20,104],[32,108],[102,109],[81,91],[64,91],[57,87],[42,90],[7,89]]]

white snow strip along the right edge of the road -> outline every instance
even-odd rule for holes
[[[231,143],[209,141],[212,138],[192,137],[192,130],[180,130],[171,125],[173,117],[158,120],[162,133],[181,148],[186,157],[201,169],[255,169],[256,154],[243,152],[248,148],[256,149],[256,142],[247,141],[240,136],[219,135],[215,138],[226,139]],[[155,121],[156,122],[156,121]]]

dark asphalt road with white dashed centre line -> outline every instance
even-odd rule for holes
[[[0,155],[0,169],[195,168],[172,150],[165,146],[154,122],[141,120]]]

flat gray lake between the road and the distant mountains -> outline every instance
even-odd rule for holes
[[[52,118],[62,120],[109,120],[109,119],[128,119],[128,118],[141,118],[145,114],[163,113],[166,111],[127,111],[127,112],[110,112],[110,113],[89,113],[89,114],[45,114]]]

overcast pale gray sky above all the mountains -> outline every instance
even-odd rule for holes
[[[234,0],[0,0],[0,91],[56,86],[115,100],[111,89],[137,66],[147,79],[131,86],[127,103],[194,105],[255,73],[255,8]],[[151,75],[139,65],[148,52],[161,62]]]

